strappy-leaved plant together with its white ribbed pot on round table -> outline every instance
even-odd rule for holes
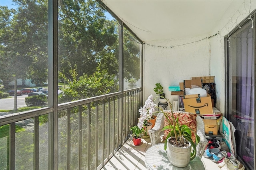
[[[170,130],[165,140],[164,149],[171,164],[186,167],[190,160],[196,157],[196,145],[200,142],[200,137],[187,125],[179,124],[178,117],[174,118],[172,104],[168,99],[166,100],[170,105],[171,113],[168,114],[160,108],[169,124],[163,130]],[[192,132],[196,136],[195,142],[192,140]]]

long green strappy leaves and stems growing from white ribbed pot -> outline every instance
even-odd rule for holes
[[[168,113],[165,113],[161,108],[160,108],[160,112],[164,114],[164,117],[166,118],[166,120],[168,121],[169,125],[165,126],[162,130],[166,130],[169,129],[170,132],[168,133],[168,135],[166,136],[166,139],[172,137],[172,139],[174,140],[174,142],[172,143],[174,146],[178,146],[178,147],[185,147],[187,146],[185,139],[191,143],[191,147],[192,152],[190,155],[190,160],[193,160],[196,157],[196,146],[197,144],[200,142],[200,137],[196,134],[196,132],[194,132],[190,127],[188,127],[187,125],[180,125],[178,123],[178,117],[177,119],[174,118],[174,113],[172,110],[172,103],[170,103],[170,101],[168,99],[166,99],[170,105],[170,110],[171,110],[171,119],[169,119],[169,115]],[[196,141],[195,143],[192,140],[192,132],[194,132],[195,136],[196,136]],[[164,142],[164,149],[166,150],[167,148],[167,140],[165,140]]]

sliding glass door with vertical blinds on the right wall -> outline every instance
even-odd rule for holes
[[[254,169],[255,28],[251,20],[229,34],[226,40],[226,116],[236,128],[238,160],[247,169]]]

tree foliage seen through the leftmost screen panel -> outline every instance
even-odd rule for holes
[[[47,0],[13,0],[17,10],[0,6],[0,79],[7,85],[16,75],[26,79],[34,75],[33,63],[47,70],[48,6]],[[40,19],[39,19],[40,18]],[[47,79],[47,76],[46,76]]]

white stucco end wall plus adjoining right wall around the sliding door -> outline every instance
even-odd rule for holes
[[[236,4],[234,4],[236,5]],[[248,18],[249,11],[256,9],[256,1],[244,1],[237,7],[230,20],[221,20],[210,35],[178,40],[146,42],[144,49],[144,98],[152,94],[155,83],[161,83],[166,97],[170,98],[168,87],[178,85],[185,79],[197,76],[215,76],[217,109],[225,111],[225,49],[224,37],[236,24]],[[256,23],[254,23],[254,27]],[[202,40],[219,32],[217,36]],[[202,40],[196,42],[198,40]],[[190,43],[194,42],[194,43]],[[188,44],[187,44],[188,43]],[[150,44],[150,45],[148,45]],[[180,45],[184,44],[184,45]],[[169,46],[167,48],[152,45]],[[180,46],[176,46],[180,45]],[[232,45],[232,44],[231,44]],[[176,46],[170,48],[170,46]]]

